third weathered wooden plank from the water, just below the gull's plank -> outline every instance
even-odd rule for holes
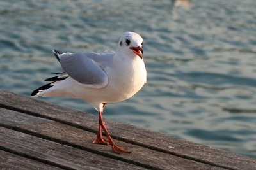
[[[143,169],[101,155],[0,127],[0,146],[64,169]]]

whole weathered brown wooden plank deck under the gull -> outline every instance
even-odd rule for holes
[[[256,159],[106,120],[116,154],[96,145],[98,118],[0,90],[0,169],[256,169]]]

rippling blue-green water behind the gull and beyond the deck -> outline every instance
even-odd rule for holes
[[[254,0],[0,1],[0,89],[29,96],[61,71],[52,48],[115,50],[144,39],[145,87],[104,117],[256,157]],[[79,99],[40,98],[96,111]]]

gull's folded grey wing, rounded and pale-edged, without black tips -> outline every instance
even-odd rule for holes
[[[60,63],[64,71],[84,87],[100,89],[108,84],[108,76],[93,60],[97,53],[73,53],[61,55]],[[98,60],[100,56],[94,56]]]

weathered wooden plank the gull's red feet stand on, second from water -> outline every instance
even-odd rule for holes
[[[118,145],[132,150],[131,154],[116,155],[109,146],[95,145],[92,143],[95,134],[92,132],[77,129],[69,125],[54,122],[44,118],[38,118],[17,111],[0,108],[1,124],[10,129],[28,132],[29,134],[47,138],[52,141],[58,139],[59,143],[68,146],[90,150],[107,157],[121,159],[132,164],[143,164],[145,167],[154,169],[221,169],[220,167],[210,166],[193,160],[183,159],[168,153],[157,152],[137,145],[132,145],[116,140]],[[20,120],[17,121],[17,120]]]

